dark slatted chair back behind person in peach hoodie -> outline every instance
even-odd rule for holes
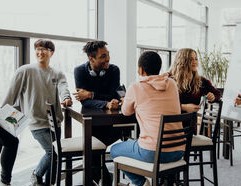
[[[172,149],[175,147],[185,147],[184,160],[189,162],[189,152],[193,136],[193,124],[196,122],[197,113],[183,113],[178,115],[161,115],[160,128],[158,134],[157,148],[155,152],[154,171],[159,172],[160,152],[164,149]],[[183,126],[182,123],[189,123]],[[172,129],[173,125],[180,128]],[[168,129],[168,130],[166,130]]]

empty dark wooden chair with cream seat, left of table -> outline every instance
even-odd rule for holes
[[[60,138],[59,123],[55,115],[54,106],[50,103],[46,103],[48,120],[50,124],[50,129],[54,135],[52,136],[53,151],[57,154],[57,175],[56,175],[56,185],[60,186],[61,182],[61,173],[74,173],[77,171],[82,171],[84,168],[82,166],[77,168],[72,168],[72,161],[82,160],[83,156],[83,137],[73,137],[73,138]],[[103,165],[105,164],[105,150],[106,146],[100,140],[95,137],[92,137],[92,151],[95,154],[99,154],[101,167],[95,167],[101,169],[101,181],[102,185],[104,183],[103,177]],[[54,154],[54,153],[52,153]],[[55,158],[52,157],[52,169],[51,175],[55,167]],[[66,168],[62,168],[62,164],[66,162]],[[55,179],[55,176],[52,176],[52,179]],[[52,181],[53,182],[53,181]],[[72,182],[72,180],[71,180]]]

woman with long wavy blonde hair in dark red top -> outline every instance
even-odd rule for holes
[[[191,48],[177,51],[169,75],[177,82],[182,112],[198,112],[201,99],[218,101],[221,93],[212,83],[198,74],[197,52]],[[197,126],[194,134],[197,134]]]

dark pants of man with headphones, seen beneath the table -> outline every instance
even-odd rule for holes
[[[126,136],[130,136],[131,131],[125,130],[119,127],[112,127],[112,126],[95,126],[92,129],[92,135],[101,140],[106,146],[111,145],[118,139],[125,139]],[[93,167],[100,167],[100,156],[98,154],[93,154],[92,158],[92,165]],[[100,180],[100,169],[94,168],[92,171],[93,179],[98,183]],[[110,173],[107,167],[104,165],[104,180],[105,186],[112,185],[112,179],[110,177]]]

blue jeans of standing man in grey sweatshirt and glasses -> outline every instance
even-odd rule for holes
[[[33,130],[31,132],[33,137],[39,142],[39,144],[45,151],[44,156],[41,158],[39,164],[35,169],[35,174],[39,177],[43,177],[45,175],[45,184],[50,185],[51,159],[52,159],[51,135],[53,135],[53,133],[50,132],[49,128]],[[55,156],[54,156],[54,159],[56,159]],[[55,175],[55,173],[53,174]]]

